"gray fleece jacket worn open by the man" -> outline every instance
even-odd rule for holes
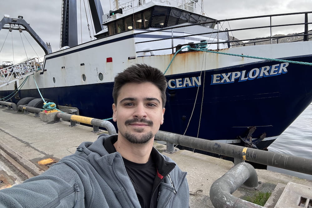
[[[0,207],[140,207],[120,153],[103,146],[108,137],[84,142],[41,175],[0,190]],[[186,174],[176,166],[163,177],[157,207],[189,207]]]

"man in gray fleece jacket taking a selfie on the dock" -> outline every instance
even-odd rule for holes
[[[188,207],[186,172],[153,148],[167,82],[144,64],[115,77],[118,135],[84,142],[40,176],[0,191],[0,207]]]

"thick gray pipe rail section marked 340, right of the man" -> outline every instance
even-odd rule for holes
[[[158,131],[155,139],[167,142],[167,152],[174,152],[173,144],[212,152],[263,165],[279,167],[286,170],[312,174],[312,159],[296,157],[276,152],[246,148],[238,145],[215,142],[213,140],[184,136],[176,133]]]

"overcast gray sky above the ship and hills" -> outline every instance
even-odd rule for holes
[[[17,18],[18,15],[23,16],[23,18],[30,24],[32,29],[41,37],[45,42],[48,42],[52,46],[52,51],[56,51],[60,46],[60,28],[61,28],[61,0],[0,0],[0,17],[2,19],[4,14],[10,15],[11,18]],[[124,1],[125,2],[125,1]],[[201,0],[199,0],[201,2]],[[205,15],[215,19],[230,19],[238,17],[248,17],[248,16],[258,16],[258,15],[269,15],[278,13],[290,13],[290,12],[305,12],[312,10],[312,0],[203,0],[204,7],[203,10]],[[109,12],[110,3],[109,1],[101,0],[104,13]],[[81,0],[82,4],[82,19],[85,19],[85,9],[83,7],[84,2]],[[87,5],[87,0],[85,0]],[[80,35],[80,1],[77,1],[78,7],[78,42],[81,43]],[[201,12],[201,7],[197,5],[197,13]],[[89,15],[89,14],[88,14]],[[312,16],[309,22],[312,21]],[[304,21],[304,16],[295,16],[295,18],[300,18]],[[90,16],[88,16],[90,23]],[[265,21],[268,21],[266,19]],[[276,19],[276,23],[280,21]],[[290,20],[289,22],[291,22]],[[261,24],[260,22],[245,22],[244,26]],[[264,22],[264,20],[263,20]],[[223,25],[223,28],[234,29],[238,27],[235,22],[230,23],[230,25]],[[303,28],[303,26],[301,26]],[[310,29],[310,28],[309,28]],[[92,27],[90,26],[90,30]],[[82,21],[82,42],[90,40],[88,27],[86,20]],[[266,36],[266,34],[261,36]],[[279,34],[283,31],[275,31]],[[303,30],[301,31],[303,32]],[[91,32],[91,35],[94,33]],[[234,34],[237,38],[239,34]],[[6,38],[6,41],[4,41]],[[13,42],[12,42],[13,39]],[[29,43],[29,42],[30,43]],[[13,45],[13,46],[12,46]],[[25,46],[25,50],[24,47]],[[30,46],[31,45],[31,46]],[[3,46],[3,48],[2,48]],[[32,49],[33,47],[33,49]],[[2,49],[2,50],[1,50]],[[0,30],[0,65],[2,61],[13,61],[18,63],[26,60],[26,57],[43,56],[44,52],[34,42],[27,32],[19,33],[18,31],[8,32],[8,30]],[[36,51],[36,53],[34,52]],[[14,51],[14,53],[13,53]],[[14,56],[13,56],[14,55]],[[43,60],[43,59],[42,59]]]

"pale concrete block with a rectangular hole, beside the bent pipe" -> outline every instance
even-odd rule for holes
[[[288,182],[275,208],[312,206],[312,187]]]

